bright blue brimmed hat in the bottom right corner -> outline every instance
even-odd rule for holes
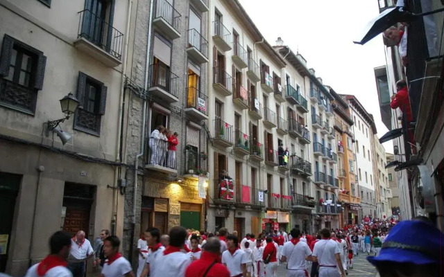
[[[372,265],[378,262],[411,262],[415,265],[441,262],[444,234],[435,226],[418,220],[402,221],[393,226],[378,256],[368,256]]]

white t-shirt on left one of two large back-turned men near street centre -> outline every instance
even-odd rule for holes
[[[299,241],[296,246],[293,242],[285,242],[281,255],[287,257],[289,269],[306,270],[307,261],[305,257],[311,255],[311,250],[306,242]]]

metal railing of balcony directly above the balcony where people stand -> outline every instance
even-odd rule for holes
[[[149,68],[149,86],[160,87],[173,96],[178,97],[179,76],[172,73],[169,66],[157,62]]]

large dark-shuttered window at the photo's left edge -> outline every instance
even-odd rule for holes
[[[3,37],[0,57],[0,105],[33,115],[46,57],[8,35]]]

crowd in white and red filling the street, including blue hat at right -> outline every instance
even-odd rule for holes
[[[26,277],[83,277],[89,258],[103,277],[275,277],[282,262],[287,263],[287,277],[343,277],[360,253],[367,254],[381,277],[443,276],[443,238],[427,217],[402,222],[366,218],[359,225],[313,235],[298,229],[262,231],[240,241],[225,228],[207,233],[176,226],[168,235],[149,228],[137,242],[134,274],[119,253],[119,238],[108,230],[101,231],[94,247],[83,231],[74,238],[58,231],[49,240],[50,254],[28,269]]]

